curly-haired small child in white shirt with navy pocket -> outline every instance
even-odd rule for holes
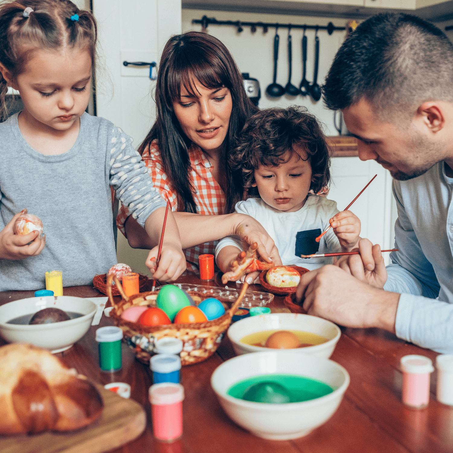
[[[242,169],[251,197],[238,202],[236,212],[261,223],[284,265],[316,269],[333,259],[300,255],[351,251],[356,246],[360,220],[350,211],[338,212],[336,202],[313,194],[330,182],[330,159],[318,121],[306,108],[265,109],[251,116],[231,154],[231,166]],[[333,228],[316,242],[329,223]],[[231,271],[241,251],[235,236],[223,238],[216,247],[219,268]]]

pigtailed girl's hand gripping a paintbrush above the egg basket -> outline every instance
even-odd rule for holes
[[[181,247],[164,241],[162,243],[159,266],[156,270],[158,252],[159,246],[155,246],[154,249],[149,251],[148,258],[145,261],[145,265],[153,274],[152,278],[161,282],[176,280],[186,270],[186,256]]]

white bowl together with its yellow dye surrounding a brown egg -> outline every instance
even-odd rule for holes
[[[267,338],[278,331],[289,331],[298,337],[300,346],[292,349],[265,347]],[[299,313],[270,313],[241,319],[228,329],[237,355],[263,351],[293,351],[329,358],[341,336],[341,330],[330,321]]]

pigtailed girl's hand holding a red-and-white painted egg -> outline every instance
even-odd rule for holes
[[[26,213],[27,210],[23,209],[0,231],[0,259],[24,260],[29,256],[39,255],[46,245],[46,236],[41,236],[39,231],[32,231],[24,236],[14,234],[14,222]]]

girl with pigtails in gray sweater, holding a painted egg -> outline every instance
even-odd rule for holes
[[[151,224],[162,224],[166,203],[132,139],[85,113],[96,33],[92,14],[68,0],[0,7],[0,102],[5,107],[13,87],[24,103],[23,111],[0,124],[1,291],[43,288],[45,272],[55,269],[63,271],[63,286],[90,284],[115,264],[109,184],[159,241]],[[24,207],[42,220],[45,237],[14,235],[15,214]],[[156,255],[154,248],[153,263]],[[169,212],[154,276],[175,279],[185,267]]]

